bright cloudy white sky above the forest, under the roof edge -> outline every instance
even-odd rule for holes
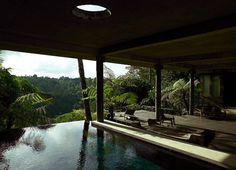
[[[15,51],[1,51],[1,53],[0,57],[4,60],[3,66],[11,68],[11,73],[17,76],[32,76],[36,74],[38,77],[79,77],[77,59]],[[83,60],[83,63],[85,76],[87,78],[96,77],[96,62]],[[128,71],[125,69],[127,65],[104,64],[115,73],[116,77],[124,75]]]

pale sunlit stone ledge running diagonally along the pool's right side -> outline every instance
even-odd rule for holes
[[[105,120],[104,122],[92,121],[92,126],[114,131],[144,142],[154,144],[156,146],[160,146],[162,148],[168,149],[169,151],[175,151],[188,157],[193,157],[204,162],[220,166],[222,168],[236,169],[235,154],[216,151],[181,142],[179,140],[153,135],[145,130],[108,120]]]

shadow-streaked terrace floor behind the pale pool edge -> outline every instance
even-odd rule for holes
[[[173,127],[169,123],[148,126],[145,119],[149,117],[147,115],[140,116],[141,114],[145,114],[145,112],[139,111],[135,114],[140,121],[124,120],[121,113],[117,114],[118,116],[114,119],[118,123],[140,128],[154,135],[236,154],[236,122],[234,121],[215,121],[196,116],[175,116],[177,124]],[[142,119],[144,117],[145,119]],[[222,129],[220,129],[221,127]]]

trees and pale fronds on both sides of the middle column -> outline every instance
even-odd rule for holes
[[[155,105],[155,70],[153,68],[129,66],[127,75],[146,81],[151,85],[151,89],[143,89],[145,92],[141,95],[143,98],[139,104]],[[178,72],[162,70],[162,107],[169,107],[179,112],[188,110],[189,82],[188,72]],[[142,84],[144,85],[144,83]],[[187,83],[188,82],[188,83]],[[140,100],[139,100],[140,101]]]

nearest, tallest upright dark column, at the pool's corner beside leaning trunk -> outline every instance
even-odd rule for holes
[[[97,63],[97,121],[98,122],[103,122],[104,121],[104,111],[103,111],[103,106],[104,106],[104,100],[103,100],[103,62],[104,58],[101,56],[97,56],[96,58],[96,63]]]

